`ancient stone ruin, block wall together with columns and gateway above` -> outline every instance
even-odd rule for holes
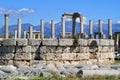
[[[14,38],[8,38],[8,14],[5,14],[5,38],[0,41],[0,64],[33,65],[38,63],[55,65],[68,64],[111,64],[114,62],[114,40],[112,39],[112,21],[108,20],[108,38],[102,32],[99,20],[99,32],[93,33],[92,20],[89,21],[89,35],[84,32],[83,16],[80,13],[62,15],[61,37],[55,37],[55,22],[51,21],[51,38],[44,37],[44,21],[40,20],[40,32],[29,28],[21,38],[21,19]],[[73,21],[72,33],[67,38],[65,18]],[[76,33],[75,21],[80,18],[80,32]],[[99,37],[96,38],[96,35]]]

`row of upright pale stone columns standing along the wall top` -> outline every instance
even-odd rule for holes
[[[8,16],[9,14],[5,14],[5,38],[8,39]],[[99,25],[99,33],[102,36],[102,21],[98,21]],[[51,38],[55,38],[55,31],[54,31],[54,21],[51,20]],[[92,38],[93,35],[93,30],[92,30],[92,20],[89,20],[89,37]],[[80,33],[84,33],[84,27],[83,27],[83,21],[81,20],[81,25],[80,25]],[[24,32],[24,37],[25,37],[26,32]],[[32,38],[32,26],[30,26],[30,38]],[[65,37],[65,18],[62,17],[62,37]],[[15,30],[15,38],[21,38],[21,19],[18,19],[18,28]],[[44,21],[40,20],[40,38],[44,39]],[[108,19],[108,38],[112,39],[112,20]]]

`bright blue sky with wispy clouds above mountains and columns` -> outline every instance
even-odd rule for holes
[[[0,0],[0,26],[4,13],[10,13],[9,25],[16,24],[18,17],[22,23],[39,25],[40,19],[61,21],[64,12],[80,12],[86,22],[110,18],[120,23],[120,0]]]

